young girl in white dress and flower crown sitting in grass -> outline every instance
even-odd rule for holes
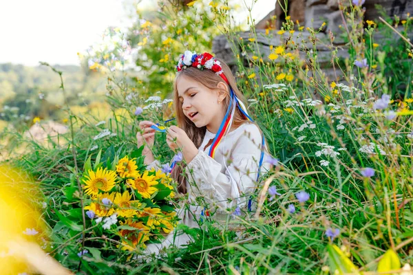
[[[262,166],[264,138],[246,112],[244,96],[228,65],[209,53],[186,51],[177,70],[173,103],[178,126],[167,130],[167,144],[173,151],[182,151],[185,161],[171,172],[179,192],[189,197],[189,211],[180,217],[189,226],[196,226],[194,219],[209,213],[225,220],[230,208],[233,212],[239,207],[236,213],[244,206],[251,208],[245,195],[256,188],[260,171],[268,169],[268,163]],[[139,125],[138,146],[145,145],[145,163],[159,168],[150,148],[155,123]],[[203,198],[202,206],[194,203],[197,197],[197,201]]]

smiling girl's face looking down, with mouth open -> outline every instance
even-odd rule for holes
[[[208,131],[217,133],[226,111],[222,102],[226,85],[220,83],[217,89],[209,89],[186,76],[178,78],[176,84],[184,115],[198,128],[207,126]]]

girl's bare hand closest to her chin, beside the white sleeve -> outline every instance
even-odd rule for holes
[[[170,126],[167,129],[167,144],[172,151],[182,149],[182,155],[187,163],[198,154],[198,148],[193,144],[192,140],[188,137],[184,130],[178,126]]]

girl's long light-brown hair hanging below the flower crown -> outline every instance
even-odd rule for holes
[[[229,85],[231,85],[235,96],[237,96],[237,98],[245,104],[245,97],[237,88],[237,83],[235,82],[235,77],[233,76],[231,69],[229,69],[228,65],[226,65],[222,60],[220,60],[219,58],[216,59],[220,61],[222,71],[224,72],[223,74],[226,76]],[[218,76],[218,74],[215,74],[209,69],[200,70],[195,67],[188,67],[187,69],[182,69],[182,71],[178,72],[178,74],[176,75],[175,81],[173,83],[173,105],[176,111],[176,121],[178,122],[178,126],[187,133],[193,144],[195,144],[197,148],[200,148],[202,140],[204,140],[204,135],[207,127],[203,126],[201,128],[198,128],[189,118],[184,115],[182,111],[182,102],[180,102],[180,100],[178,99],[177,87],[178,78],[180,78],[181,76],[186,76],[188,78],[196,80],[209,89],[217,89],[218,83],[225,83],[225,85],[228,87],[228,94],[226,94],[225,99],[222,102],[225,110],[229,107],[230,87],[224,81],[224,79],[221,78],[221,76]],[[248,120],[244,118],[244,115],[242,115],[240,109],[236,108],[232,124],[234,128],[237,128],[247,121]],[[185,183],[185,176],[182,173],[182,170],[184,168],[185,165],[181,162],[180,165],[177,165],[175,166],[175,168],[173,168],[171,176],[178,182],[178,191],[186,194],[187,185]]]

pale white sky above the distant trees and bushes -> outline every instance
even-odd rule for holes
[[[237,0],[238,1],[238,0]],[[244,0],[239,0],[243,5]],[[245,2],[251,5],[253,0]],[[258,0],[252,14],[260,21],[276,0]],[[131,24],[134,0],[4,0],[0,1],[0,63],[26,66],[44,61],[78,65],[78,52],[101,41],[110,26]],[[156,3],[142,0],[140,8]],[[238,18],[246,18],[239,14]]]

